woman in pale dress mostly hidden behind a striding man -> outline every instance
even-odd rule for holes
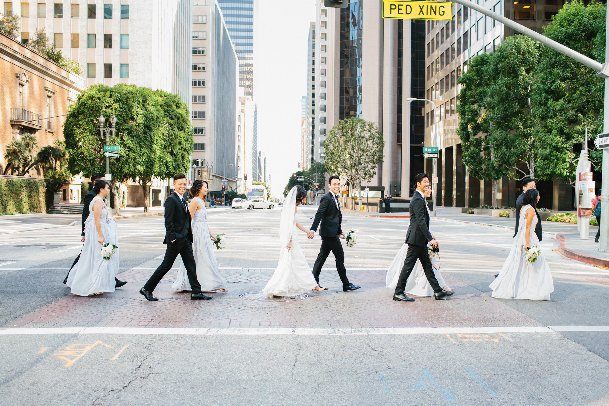
[[[425,198],[429,198],[431,196],[431,188],[427,188],[425,190]],[[427,206],[426,206],[427,207]],[[427,208],[429,212],[429,207]],[[429,213],[431,217],[431,213]],[[387,276],[385,277],[385,285],[387,285],[387,289],[395,290],[396,285],[398,284],[398,279],[400,279],[400,273],[402,271],[402,267],[404,266],[404,260],[406,260],[406,254],[408,252],[408,244],[404,243],[398,254],[393,258],[393,262],[389,265],[389,271],[387,271]],[[440,285],[442,290],[447,292],[452,292],[454,289],[446,286],[446,282],[440,274],[440,262],[437,257],[431,258],[431,264],[434,267],[434,276],[435,279],[438,280],[438,285]],[[415,267],[412,268],[412,273],[408,277],[406,282],[406,287],[404,288],[404,294],[413,294],[414,296],[434,296],[434,290],[432,289],[427,277],[425,276],[425,271],[423,270],[423,266],[419,261],[415,264]]]

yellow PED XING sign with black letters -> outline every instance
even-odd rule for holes
[[[452,20],[452,2],[383,0],[382,18]]]

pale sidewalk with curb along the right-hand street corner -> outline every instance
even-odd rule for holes
[[[513,218],[460,213],[460,209],[455,207],[438,207],[436,213],[436,219],[440,221],[475,224],[477,226],[510,230],[512,232],[516,222]],[[577,224],[542,221],[541,229],[543,230],[544,238],[553,238],[558,241],[558,252],[565,257],[590,265],[609,268],[609,252],[597,251],[599,244],[594,242],[594,236],[599,229],[598,226],[590,226],[589,240],[580,240]]]

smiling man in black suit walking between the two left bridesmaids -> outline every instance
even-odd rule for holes
[[[143,294],[149,301],[158,301],[157,297],[152,296],[152,292],[174,265],[175,258],[180,254],[186,268],[188,281],[191,284],[191,301],[208,301],[211,297],[201,293],[201,285],[197,280],[197,266],[192,255],[191,215],[184,200],[186,176],[183,173],[174,176],[174,190],[174,193],[166,199],[164,205],[166,233],[163,244],[167,244],[165,257],[161,265],[150,276],[146,285],[139,290],[139,293]]]

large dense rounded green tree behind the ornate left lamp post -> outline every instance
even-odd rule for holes
[[[85,177],[105,173],[105,135],[97,118],[116,116],[116,133],[110,143],[119,145],[119,158],[110,159],[110,185],[114,213],[120,214],[119,188],[135,180],[144,191],[144,210],[152,177],[166,179],[188,170],[192,151],[192,128],[188,106],[174,94],[118,84],[93,85],[71,105],[64,124],[64,137],[72,173]]]

